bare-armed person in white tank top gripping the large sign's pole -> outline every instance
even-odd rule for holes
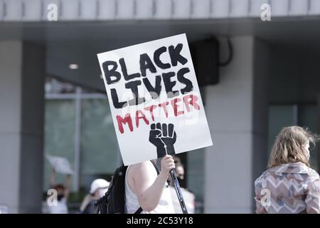
[[[159,175],[149,161],[130,165],[125,182],[126,213],[133,214],[141,207],[142,213],[174,214],[174,206],[166,181],[170,170],[175,167],[171,155],[162,158]]]

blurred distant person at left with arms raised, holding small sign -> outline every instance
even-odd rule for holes
[[[55,184],[55,169],[52,167],[50,175],[50,188],[57,191],[57,205],[48,207],[49,214],[68,214],[68,197],[71,187],[71,175],[67,175],[65,184]]]

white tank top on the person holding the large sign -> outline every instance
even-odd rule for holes
[[[127,172],[129,170],[130,166],[127,168]],[[125,203],[125,212],[126,214],[134,214],[134,212],[137,212],[137,209],[139,209],[140,204],[137,195],[130,190],[128,181],[127,181],[127,172],[125,177],[125,191],[126,191],[126,203]],[[142,211],[142,214],[174,214],[174,205],[172,203],[171,194],[169,187],[164,187],[164,191],[162,192],[162,195],[159,200],[158,206],[151,211],[151,212],[145,212]]]

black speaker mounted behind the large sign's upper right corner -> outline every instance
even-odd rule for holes
[[[199,86],[219,82],[219,41],[212,37],[190,43],[191,58]]]

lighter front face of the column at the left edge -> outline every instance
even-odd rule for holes
[[[0,43],[0,204],[8,205],[9,212],[18,212],[19,200],[21,56],[21,42]]]

